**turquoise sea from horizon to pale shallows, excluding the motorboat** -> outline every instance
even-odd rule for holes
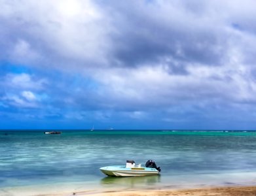
[[[126,159],[141,165],[153,159],[162,172],[109,178],[99,170],[124,165]],[[0,131],[0,188],[77,182],[98,188],[256,184],[255,166],[253,131]]]

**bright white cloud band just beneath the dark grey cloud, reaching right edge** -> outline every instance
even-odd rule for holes
[[[96,80],[105,86],[113,105],[134,110],[256,101],[255,80],[246,65],[187,65],[187,71],[185,75],[169,74],[164,65],[112,69],[98,73]]]

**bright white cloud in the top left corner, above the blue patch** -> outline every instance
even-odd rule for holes
[[[95,3],[46,0],[1,1],[0,5],[5,10],[0,22],[6,33],[0,38],[5,40],[9,61],[26,59],[30,65],[48,64],[59,69],[74,60],[72,66],[79,67],[81,61],[104,63],[111,28]]]

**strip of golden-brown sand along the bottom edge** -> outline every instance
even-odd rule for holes
[[[201,188],[167,188],[167,189],[55,189],[43,191],[43,189],[0,189],[0,195],[3,196],[146,196],[146,195],[175,195],[175,196],[205,196],[205,195],[225,195],[225,196],[255,196],[255,186],[208,186]]]

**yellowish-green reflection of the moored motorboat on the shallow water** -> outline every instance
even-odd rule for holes
[[[113,177],[107,176],[101,179],[103,186],[126,186],[134,188],[135,186],[152,186],[160,182],[160,174],[153,176],[132,176],[132,177]]]

